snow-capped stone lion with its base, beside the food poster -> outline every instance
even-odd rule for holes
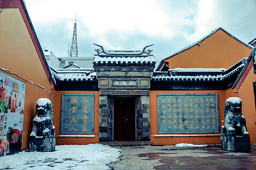
[[[55,151],[55,127],[52,125],[53,109],[51,100],[40,98],[36,101],[36,113],[30,134],[29,151]]]

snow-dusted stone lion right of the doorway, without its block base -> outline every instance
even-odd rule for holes
[[[224,107],[224,126],[222,134],[230,136],[249,135],[246,128],[245,117],[242,115],[242,100],[239,97],[229,97]]]

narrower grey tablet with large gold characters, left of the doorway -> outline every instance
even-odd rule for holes
[[[94,134],[94,94],[63,94],[61,134]]]

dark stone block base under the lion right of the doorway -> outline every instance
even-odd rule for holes
[[[250,152],[250,136],[227,136],[221,135],[221,147],[225,151]]]

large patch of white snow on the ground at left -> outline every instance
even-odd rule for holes
[[[54,152],[19,152],[0,157],[0,169],[110,169],[121,150],[101,144],[60,145]]]

